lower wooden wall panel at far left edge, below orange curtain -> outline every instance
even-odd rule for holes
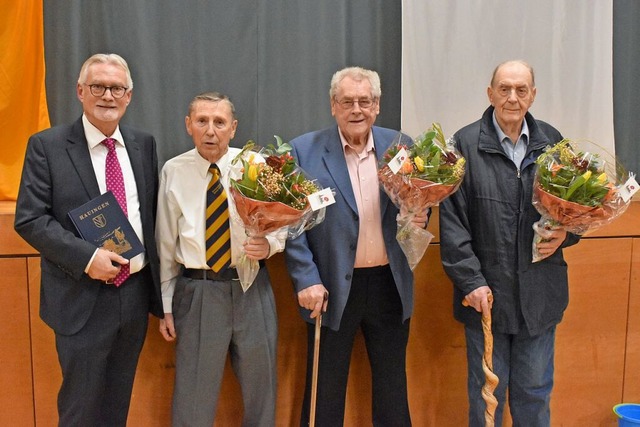
[[[0,258],[0,425],[33,426],[27,262]]]

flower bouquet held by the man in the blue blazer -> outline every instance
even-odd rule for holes
[[[413,141],[405,141],[402,134],[398,134],[379,163],[380,184],[400,208],[396,238],[412,270],[422,259],[433,235],[411,221],[416,213],[426,211],[458,189],[464,165],[464,157],[451,140],[445,140],[439,123],[433,123]]]

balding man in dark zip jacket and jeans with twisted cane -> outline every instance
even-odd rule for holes
[[[508,388],[514,425],[548,426],[555,328],[568,304],[562,248],[578,237],[552,230],[538,244],[550,256],[532,263],[540,215],[531,197],[535,160],[562,135],[528,112],[536,87],[527,63],[498,65],[487,95],[491,106],[482,118],[454,135],[467,171],[440,206],[442,263],[454,283],[455,318],[465,325],[469,425],[484,426],[481,313],[491,310],[500,379],[495,425],[502,425]]]

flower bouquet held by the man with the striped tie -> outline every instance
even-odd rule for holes
[[[260,148],[249,141],[242,148],[232,160],[229,193],[235,203],[235,219],[242,222],[248,236],[278,231],[293,239],[321,223],[329,203],[312,207],[309,196],[321,188],[295,163],[289,154],[291,146],[279,136],[275,139],[277,145]],[[243,256],[236,267],[243,288],[248,288],[260,269],[258,261]]]

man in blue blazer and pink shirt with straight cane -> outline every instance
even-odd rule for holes
[[[407,426],[405,358],[413,274],[396,240],[398,209],[377,178],[378,159],[398,131],[373,126],[381,96],[375,71],[340,70],[329,94],[337,127],[291,141],[299,165],[336,193],[324,222],[285,247],[300,311],[308,322],[301,424],[306,425],[310,412],[314,319],[324,311],[316,425],[343,423],[351,350],[362,328],[373,378],[374,424]],[[425,212],[414,223],[424,227],[426,220]]]

